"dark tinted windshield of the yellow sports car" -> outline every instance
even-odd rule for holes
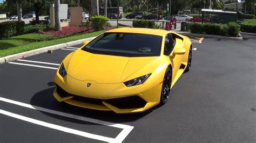
[[[82,50],[117,56],[159,56],[162,37],[137,33],[104,33]]]

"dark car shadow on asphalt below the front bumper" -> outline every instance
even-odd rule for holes
[[[50,84],[50,83],[48,83]],[[51,85],[51,84],[50,84]],[[125,113],[125,114],[117,114],[113,111],[99,111],[99,110],[91,110],[91,109],[85,109],[85,108],[79,108],[77,106],[69,105],[67,103],[59,103],[52,95],[55,87],[51,87],[49,89],[45,89],[42,91],[37,92],[35,95],[32,96],[30,100],[30,104],[35,108],[45,108],[45,109],[51,109],[55,111],[70,113],[77,116],[83,116],[87,118],[92,119],[98,119],[103,121],[110,121],[113,123],[126,123],[138,120],[140,118],[143,118],[146,115],[149,115],[153,110],[159,108],[159,105],[154,106],[152,109],[149,109],[145,112],[139,112],[139,113]],[[40,111],[38,109],[38,111]],[[70,121],[74,123],[81,123],[81,124],[93,124],[93,123],[87,123],[85,121],[78,121],[77,119],[71,119],[68,117],[63,117],[59,115],[55,115],[52,113],[40,111],[44,113],[47,116],[57,118],[60,120]]]

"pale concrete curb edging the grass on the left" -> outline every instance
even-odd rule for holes
[[[63,43],[63,44],[58,44],[58,45],[52,45],[52,46],[48,46],[48,47],[33,49],[31,51],[26,51],[26,52],[14,54],[14,55],[4,56],[4,57],[0,58],[0,64],[10,62],[10,61],[14,61],[14,60],[21,59],[21,58],[25,58],[25,57],[32,56],[32,55],[46,53],[46,52],[48,52],[48,50],[56,50],[56,49],[60,49],[60,48],[65,48],[65,47],[70,47],[70,46],[82,44],[82,42],[84,40],[91,40],[93,38],[95,38],[95,37],[80,39],[80,40],[76,40],[76,41],[66,42],[66,43]]]

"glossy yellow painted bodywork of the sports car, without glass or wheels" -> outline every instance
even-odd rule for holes
[[[172,70],[171,87],[187,67],[188,52],[192,45],[190,39],[172,31],[149,28],[116,28],[107,32],[160,35],[163,37],[161,47],[159,47],[161,54],[152,57],[93,54],[82,50],[89,43],[84,42],[85,45],[70,53],[63,60],[68,75],[62,77],[58,69],[54,79],[56,86],[68,95],[60,96],[56,88],[53,96],[58,102],[66,102],[88,109],[112,110],[116,113],[142,112],[159,104],[167,67],[171,67]],[[166,56],[164,55],[164,42],[166,34],[169,33],[176,35],[176,45],[171,54]],[[123,83],[146,74],[151,75],[143,84],[126,87]],[[90,87],[86,87],[88,83]],[[75,99],[75,96],[90,98],[102,104],[79,101]],[[131,96],[142,98],[146,102],[145,105],[140,108],[120,109],[106,101]]]

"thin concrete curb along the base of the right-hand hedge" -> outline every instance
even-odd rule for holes
[[[196,33],[184,32],[184,31],[174,31],[174,32],[179,33],[181,35],[186,35],[186,36],[217,38],[217,39],[227,39],[227,40],[243,40],[242,35],[240,33],[239,33],[240,37],[225,37],[225,36],[219,36],[219,35],[196,34]]]

